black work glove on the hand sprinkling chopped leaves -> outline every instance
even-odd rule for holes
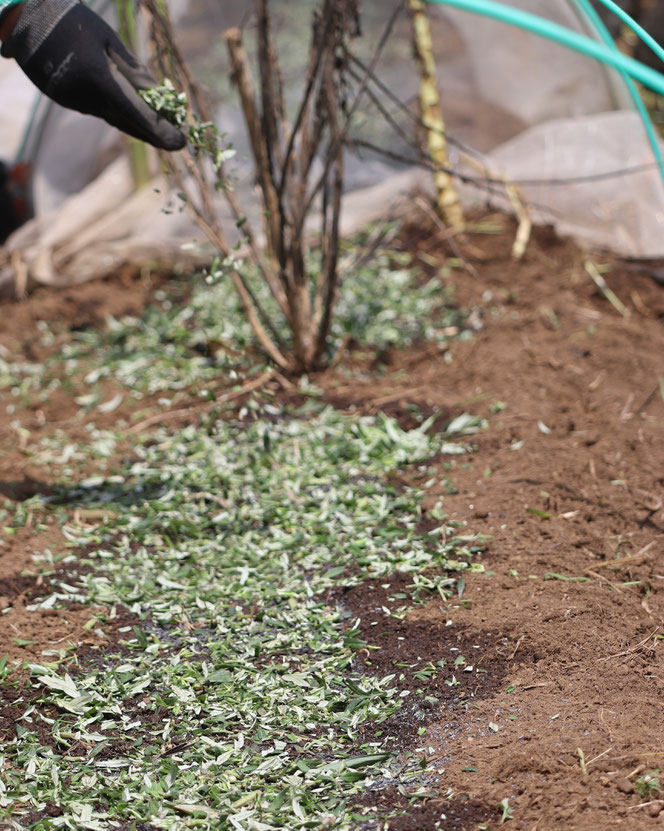
[[[99,15],[77,0],[26,0],[5,58],[63,107],[96,115],[162,150],[180,150],[182,132],[136,93],[155,79]]]

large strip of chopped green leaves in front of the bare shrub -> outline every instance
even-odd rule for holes
[[[475,541],[418,533],[421,493],[389,473],[464,447],[316,405],[270,416],[158,432],[124,472],[53,497],[112,518],[64,526],[60,568],[92,568],[52,577],[35,608],[103,606],[102,631],[123,607],[139,622],[75,671],[30,665],[0,764],[10,827],[58,805],[32,827],[347,828],[372,783],[417,790],[419,760],[357,741],[411,691],[354,670],[371,644],[326,598],[395,571],[414,599],[448,595]]]

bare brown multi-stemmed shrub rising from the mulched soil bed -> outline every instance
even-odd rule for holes
[[[173,47],[174,33],[164,8],[165,0],[143,0],[152,14],[152,33],[157,62],[163,74],[180,89],[191,93],[193,79],[182,56]],[[394,26],[405,0],[390,18],[371,63],[371,71]],[[321,0],[314,16],[304,92],[292,125],[287,123],[279,58],[272,36],[269,0],[256,0],[258,88],[243,44],[243,33],[225,33],[232,79],[237,89],[249,132],[256,177],[263,200],[267,252],[259,250],[256,237],[231,189],[224,196],[242,225],[249,254],[269,286],[290,328],[290,355],[279,337],[279,326],[252,293],[241,270],[233,265],[233,251],[215,211],[211,167],[191,150],[179,161],[168,159],[169,168],[194,220],[230,264],[230,276],[256,338],[280,367],[307,371],[325,357],[339,286],[339,232],[344,178],[344,139],[368,75],[358,84],[350,106],[346,104],[347,40],[359,33],[358,0]],[[256,77],[256,76],[254,76]],[[205,117],[199,91],[191,96]],[[314,182],[314,161],[323,172]],[[223,176],[223,166],[214,165]],[[320,202],[320,268],[309,273],[307,219],[315,201]],[[316,202],[318,205],[319,203]]]

